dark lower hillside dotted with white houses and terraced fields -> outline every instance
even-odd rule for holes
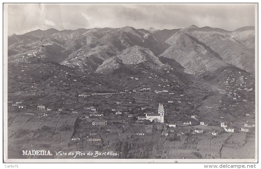
[[[212,119],[193,110],[204,99],[200,94],[193,99],[203,87],[200,83],[190,92],[177,77],[144,70],[142,76],[117,82],[125,89],[106,90],[102,79],[50,63],[42,65],[52,69],[30,65],[30,71],[42,76],[33,77],[27,74],[28,64],[20,63],[16,79],[9,79],[13,94],[9,95],[8,111],[14,113],[8,119],[10,149],[23,142],[24,146],[41,144],[57,151],[119,151],[116,158],[228,158],[230,147],[251,154],[252,149],[246,150],[245,145],[253,142],[255,112],[241,111],[235,117],[227,110],[249,110],[246,105],[254,100],[251,102],[246,93],[253,93],[252,76],[228,71],[231,76],[220,82],[223,90],[205,91],[219,96],[207,106],[201,105],[209,113],[220,112]],[[173,70],[163,71],[168,74]],[[133,84],[139,87],[131,89]],[[18,93],[20,99],[15,97]],[[123,145],[130,149],[123,151]]]

